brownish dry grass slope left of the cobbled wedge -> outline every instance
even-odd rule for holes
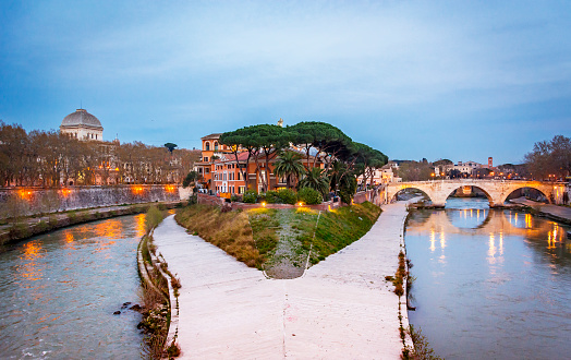
[[[247,266],[262,267],[265,257],[256,248],[245,212],[221,213],[216,206],[194,204],[179,208],[174,219]]]

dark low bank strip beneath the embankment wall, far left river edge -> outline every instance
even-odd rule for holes
[[[87,208],[64,213],[52,213],[42,216],[25,217],[19,221],[0,226],[0,252],[3,251],[4,245],[13,244],[33,236],[53,231],[68,226],[101,220],[116,216],[139,214],[146,212],[153,205],[165,206],[165,208],[173,208],[179,204],[179,201],[162,203],[153,202]]]

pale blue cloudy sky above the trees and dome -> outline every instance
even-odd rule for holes
[[[0,2],[0,119],[181,147],[325,121],[390,158],[520,163],[571,135],[571,2]]]

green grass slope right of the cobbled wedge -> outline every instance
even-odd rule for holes
[[[318,263],[361,239],[370,230],[379,215],[380,207],[369,202],[323,212],[315,230],[315,239],[313,239],[309,259],[312,264]],[[313,224],[315,226],[315,221]],[[309,223],[305,226],[307,228],[303,230],[304,235],[300,240],[302,240],[304,249],[308,249],[312,244],[313,229],[309,231]]]

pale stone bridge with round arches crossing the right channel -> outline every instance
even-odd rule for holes
[[[482,190],[489,201],[489,206],[501,206],[506,199],[515,190],[532,188],[540,191],[550,203],[562,204],[563,193],[568,191],[567,183],[522,180],[477,180],[454,179],[433,181],[393,182],[384,189],[384,202],[390,203],[398,192],[404,189],[417,189],[424,192],[435,206],[444,207],[448,196],[462,187],[474,187]]]

